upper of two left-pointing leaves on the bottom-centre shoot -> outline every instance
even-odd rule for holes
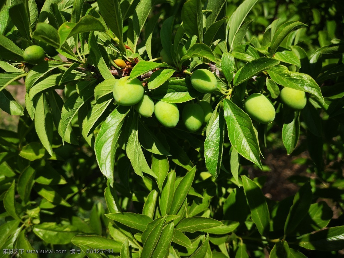
[[[111,220],[115,220],[128,227],[135,228],[142,232],[146,230],[147,224],[153,221],[150,217],[146,215],[131,212],[109,213],[105,214],[105,216],[107,216]]]

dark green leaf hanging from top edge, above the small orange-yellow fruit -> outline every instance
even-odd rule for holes
[[[118,0],[99,0],[98,7],[110,30],[119,39],[122,50],[125,50],[123,44],[123,18]]]

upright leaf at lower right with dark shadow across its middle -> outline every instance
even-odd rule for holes
[[[256,224],[259,233],[266,236],[269,233],[269,209],[265,196],[259,186],[247,176],[241,176],[243,187],[251,210],[251,219]]]

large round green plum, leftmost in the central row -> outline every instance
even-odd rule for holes
[[[142,99],[143,86],[139,79],[126,76],[116,81],[113,93],[118,105],[132,106]]]

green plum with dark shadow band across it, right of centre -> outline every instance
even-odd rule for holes
[[[217,87],[215,75],[207,69],[198,69],[191,75],[191,84],[201,93],[213,92]]]

